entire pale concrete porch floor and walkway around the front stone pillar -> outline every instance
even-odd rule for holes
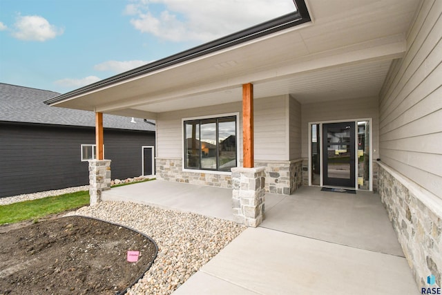
[[[102,198],[233,220],[231,189],[155,180]],[[173,294],[419,294],[378,194],[267,193],[265,214]]]

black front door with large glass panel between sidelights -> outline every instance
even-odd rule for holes
[[[323,124],[323,185],[355,187],[354,122]]]

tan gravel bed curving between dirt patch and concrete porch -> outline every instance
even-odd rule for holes
[[[115,222],[155,240],[155,262],[127,294],[171,294],[246,229],[229,220],[131,202],[100,202],[68,215]]]

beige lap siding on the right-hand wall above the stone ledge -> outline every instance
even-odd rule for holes
[[[423,1],[381,91],[381,160],[442,198],[442,1]]]

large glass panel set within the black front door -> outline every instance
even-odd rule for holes
[[[327,129],[327,175],[328,178],[351,178],[350,126]]]

